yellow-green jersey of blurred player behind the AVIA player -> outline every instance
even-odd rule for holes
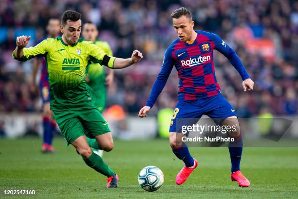
[[[107,55],[112,56],[112,50],[108,42],[95,40],[94,43],[97,47],[101,48]],[[106,74],[105,70],[102,65],[99,63],[91,63],[88,67],[88,78],[89,82],[88,85],[96,92],[97,90],[104,90],[105,88],[105,81],[106,81]],[[96,92],[97,93],[97,92]],[[98,93],[97,93],[98,95]]]

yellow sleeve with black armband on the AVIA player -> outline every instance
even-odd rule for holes
[[[114,60],[116,58],[108,56],[101,48],[98,48],[92,42],[89,43],[88,48],[90,49],[90,60],[93,63],[99,63],[100,65],[105,65],[109,68],[113,68]]]

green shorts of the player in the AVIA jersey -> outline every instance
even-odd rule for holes
[[[54,118],[67,145],[80,136],[94,138],[111,132],[108,123],[96,108],[77,110],[54,110]]]

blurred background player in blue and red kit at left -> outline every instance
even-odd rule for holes
[[[47,38],[57,38],[60,33],[60,20],[58,18],[51,18],[48,21],[46,30],[48,35],[39,40],[40,43],[42,40]],[[42,65],[41,74],[39,79],[39,92],[43,104],[43,115],[42,115],[42,127],[43,127],[43,144],[41,151],[43,153],[50,152],[54,153],[54,148],[52,146],[53,132],[56,130],[56,122],[53,116],[53,111],[50,110],[50,85],[49,85],[49,76],[47,71],[47,65],[45,58],[41,57],[40,59],[33,60],[33,75],[32,75],[32,88],[36,92],[36,76],[39,69],[39,66]]]

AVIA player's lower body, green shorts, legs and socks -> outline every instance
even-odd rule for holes
[[[102,142],[105,142],[102,143],[105,149],[112,150],[113,148],[110,129],[98,110],[95,108],[65,111],[54,110],[54,117],[67,143],[75,147],[77,153],[82,156],[88,166],[108,177],[108,187],[116,187],[111,182],[109,183],[116,175],[115,172],[109,168],[100,156],[92,152],[86,139],[86,133],[88,132],[93,137],[98,137]]]

